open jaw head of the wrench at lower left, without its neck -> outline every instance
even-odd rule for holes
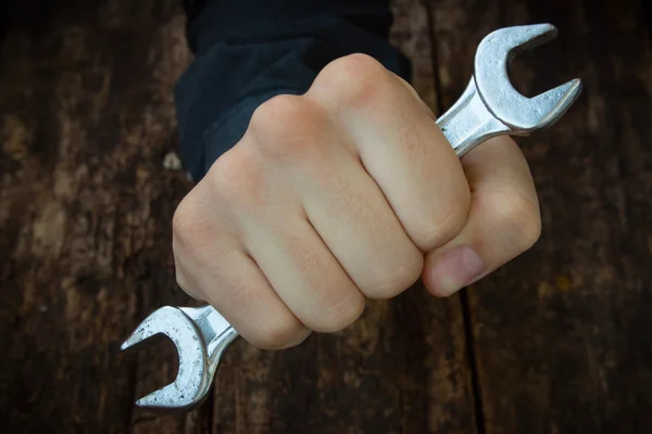
[[[172,340],[179,355],[179,371],[172,384],[140,398],[136,405],[158,411],[183,411],[198,406],[205,398],[211,382],[200,331],[179,308],[165,306],[147,317],[121,349],[140,348],[153,343],[154,336]]]

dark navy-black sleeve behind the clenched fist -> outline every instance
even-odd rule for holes
[[[366,53],[410,80],[387,41],[389,0],[184,0],[193,63],[175,88],[180,153],[195,181],[244,133],[253,111],[304,93],[329,62]]]

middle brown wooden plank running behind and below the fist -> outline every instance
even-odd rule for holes
[[[415,87],[434,107],[427,10],[394,2],[393,41],[414,61]],[[368,303],[361,320],[297,348],[239,341],[217,373],[216,433],[472,433],[475,431],[459,299],[421,286]]]

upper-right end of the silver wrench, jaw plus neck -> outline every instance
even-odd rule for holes
[[[507,67],[518,53],[557,34],[552,24],[506,27],[485,37],[476,51],[474,74],[466,90],[437,124],[459,156],[496,136],[527,136],[559,120],[581,93],[570,80],[527,98],[512,86]]]

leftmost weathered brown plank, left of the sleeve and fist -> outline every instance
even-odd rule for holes
[[[0,56],[2,432],[126,431],[135,380],[140,393],[170,374],[155,355],[137,370],[120,342],[154,306],[187,302],[168,228],[190,186],[162,167],[183,15],[176,0],[73,3],[15,8]]]

